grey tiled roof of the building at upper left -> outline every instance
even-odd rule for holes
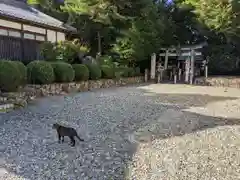
[[[75,31],[75,28],[69,25],[66,26],[63,22],[48,16],[21,1],[0,0],[0,15],[63,30]]]

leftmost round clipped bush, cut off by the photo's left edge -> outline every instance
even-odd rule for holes
[[[13,61],[0,60],[0,89],[16,91],[21,85],[21,73]]]

